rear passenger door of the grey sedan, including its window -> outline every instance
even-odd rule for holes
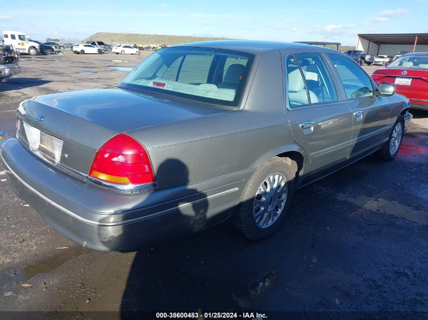
[[[285,81],[285,112],[308,158],[306,181],[345,160],[352,139],[351,109],[339,100],[332,70],[319,53],[285,57]]]

